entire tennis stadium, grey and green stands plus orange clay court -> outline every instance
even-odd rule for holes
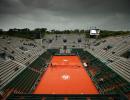
[[[0,99],[127,100],[129,95],[130,35],[0,37]]]

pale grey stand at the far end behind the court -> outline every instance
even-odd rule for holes
[[[63,40],[67,40],[64,42]],[[81,42],[78,42],[78,39],[81,39]],[[52,42],[48,42],[52,40]],[[51,48],[61,48],[63,45],[67,45],[68,48],[79,48],[83,47],[85,44],[85,35],[84,34],[48,34],[45,35],[43,44]]]

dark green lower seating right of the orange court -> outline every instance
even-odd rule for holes
[[[130,83],[115,73],[105,63],[101,62],[87,51],[82,52],[82,55],[82,59],[87,59],[89,67],[97,70],[96,74],[93,76],[89,68],[86,68],[100,93],[130,92]]]

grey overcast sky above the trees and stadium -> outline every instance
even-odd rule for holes
[[[0,28],[130,30],[130,0],[0,0]]]

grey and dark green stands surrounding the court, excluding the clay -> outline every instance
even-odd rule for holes
[[[59,34],[56,39],[56,35],[47,35],[43,45],[18,37],[0,38],[0,51],[14,57],[0,59],[0,94],[7,91],[31,93],[51,56],[58,54],[64,44],[72,48],[72,54],[87,60],[89,66],[85,69],[101,94],[130,92],[130,60],[120,56],[129,50],[130,37],[90,39],[87,42],[83,36]],[[78,38],[82,40],[79,44]]]

